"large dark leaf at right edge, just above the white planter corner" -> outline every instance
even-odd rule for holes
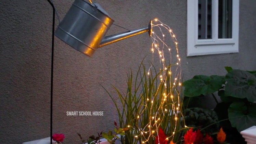
[[[232,127],[239,132],[256,126],[256,104],[233,102],[228,108],[228,117]]]

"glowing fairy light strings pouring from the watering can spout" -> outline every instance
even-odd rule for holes
[[[147,143],[152,136],[158,136],[161,125],[166,125],[166,131],[169,131],[166,140],[174,139],[175,132],[179,125],[180,117],[180,91],[181,91],[181,57],[178,51],[178,41],[172,29],[158,19],[154,19],[152,25],[152,60],[154,61],[154,53],[159,56],[159,84],[156,89],[156,95],[146,97],[146,105],[141,114],[149,113],[150,121],[148,124],[131,128],[135,133],[135,139],[140,138],[142,143]],[[152,73],[153,64],[148,70],[148,79]],[[164,93],[158,93],[160,89],[164,89]],[[154,103],[158,102],[158,108],[155,109]],[[140,115],[137,116],[140,119]],[[164,120],[165,119],[165,120]],[[130,127],[130,126],[129,126]],[[158,142],[159,143],[159,142]]]

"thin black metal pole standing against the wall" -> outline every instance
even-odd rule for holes
[[[52,99],[53,99],[53,58],[54,58],[54,28],[55,28],[55,8],[53,3],[50,0],[47,0],[53,9],[52,13],[52,64],[51,64],[51,128],[50,128],[50,139],[51,139],[51,144],[52,144]]]

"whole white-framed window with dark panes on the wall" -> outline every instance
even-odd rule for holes
[[[239,0],[188,0],[187,4],[187,56],[239,52]]]

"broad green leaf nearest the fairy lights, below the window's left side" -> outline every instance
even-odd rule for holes
[[[196,75],[192,79],[184,81],[184,95],[188,97],[207,95],[218,91],[225,82],[223,76]]]

